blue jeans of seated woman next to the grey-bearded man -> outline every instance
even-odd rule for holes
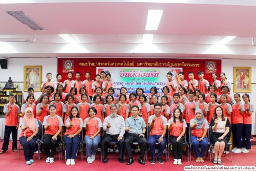
[[[96,150],[98,147],[98,143],[100,141],[100,136],[94,137],[94,139],[90,138],[91,136],[86,136],[84,141],[86,141],[86,156],[90,157],[91,156],[91,149],[92,149],[92,155],[96,154]]]

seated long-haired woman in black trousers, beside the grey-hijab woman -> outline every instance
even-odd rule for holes
[[[174,110],[174,118],[168,121],[168,131],[170,131],[169,141],[173,146],[174,165],[181,165],[182,143],[185,142],[186,121],[182,119],[181,109]]]

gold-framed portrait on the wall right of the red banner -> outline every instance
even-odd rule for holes
[[[234,67],[234,92],[251,92],[251,67]]]

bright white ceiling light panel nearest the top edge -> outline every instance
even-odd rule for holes
[[[146,30],[157,30],[163,10],[148,10],[146,19]]]

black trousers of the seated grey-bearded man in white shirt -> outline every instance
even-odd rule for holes
[[[124,154],[124,137],[120,141],[117,140],[118,135],[110,135],[110,134],[104,134],[102,143],[101,143],[101,150],[103,151],[103,158],[108,157],[108,145],[111,141],[116,141],[117,142],[117,147],[119,151],[119,159],[123,158]]]

